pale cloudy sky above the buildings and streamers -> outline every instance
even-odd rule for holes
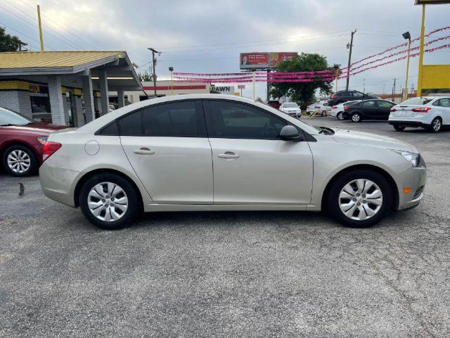
[[[405,31],[418,36],[421,19],[414,0],[2,0],[0,25],[32,50],[39,46],[37,3],[46,50],[126,50],[143,71],[150,65],[147,47],[154,47],[162,51],[161,78],[169,78],[169,66],[180,72],[238,72],[238,53],[249,51],[317,52],[344,66],[351,30],[357,29],[356,61],[402,43]],[[425,31],[450,25],[449,18],[450,5],[427,6]],[[450,30],[432,38],[447,35]],[[424,62],[448,63],[449,56],[450,49],[441,50]],[[410,76],[416,87],[417,58]],[[350,86],[362,91],[364,83],[365,91],[391,92],[393,78],[397,88],[404,86],[405,62],[354,76]],[[266,96],[263,84],[257,94]]]

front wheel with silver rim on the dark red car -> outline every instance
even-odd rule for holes
[[[10,146],[3,153],[5,170],[13,176],[36,174],[39,162],[34,152],[27,146]]]

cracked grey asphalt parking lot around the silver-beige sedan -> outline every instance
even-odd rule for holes
[[[319,213],[183,212],[102,231],[37,177],[2,173],[0,336],[448,337],[450,131],[311,123],[414,144],[423,202],[367,229]]]

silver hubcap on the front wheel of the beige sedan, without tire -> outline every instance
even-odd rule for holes
[[[347,183],[339,194],[339,207],[350,219],[363,221],[377,215],[383,205],[383,193],[374,182],[356,179]]]

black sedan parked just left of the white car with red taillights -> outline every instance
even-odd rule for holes
[[[364,100],[353,105],[344,105],[342,114],[352,122],[361,122],[363,119],[387,120],[394,105],[395,102],[388,100]]]

